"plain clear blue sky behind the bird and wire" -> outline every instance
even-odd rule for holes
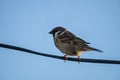
[[[0,0],[0,43],[63,56],[48,34],[56,26],[104,51],[81,58],[120,60],[120,0]],[[120,65],[65,63],[0,48],[0,80],[120,80]]]

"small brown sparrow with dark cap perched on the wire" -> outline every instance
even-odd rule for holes
[[[52,31],[49,32],[53,35],[55,46],[63,52],[64,60],[67,59],[67,56],[78,56],[78,61],[80,62],[80,55],[84,51],[98,51],[102,52],[99,49],[88,46],[88,42],[84,41],[81,38],[78,38],[73,33],[67,31],[65,28],[58,26]]]

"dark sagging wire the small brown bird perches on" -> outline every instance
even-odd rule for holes
[[[8,45],[8,44],[0,43],[0,47],[64,60],[64,57],[63,57],[63,56],[57,56],[57,55],[52,55],[52,54],[40,53],[40,52],[32,51],[32,50],[29,50],[29,49],[25,49],[25,48],[13,46],[13,45]],[[67,60],[68,60],[68,61],[78,61],[77,58],[70,58],[70,57],[68,57]],[[105,63],[105,64],[120,64],[120,61],[118,61],[118,60],[87,59],[87,58],[80,58],[80,62]]]

